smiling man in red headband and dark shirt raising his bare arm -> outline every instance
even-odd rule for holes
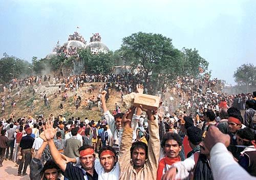
[[[66,164],[65,160],[61,158],[54,144],[54,136],[57,129],[53,128],[52,121],[48,121],[45,128],[45,136],[48,141],[50,152],[53,160],[56,162],[61,171],[65,172],[64,176],[69,180],[96,180],[98,179],[98,174],[94,169],[95,164],[95,153],[92,146],[82,146],[78,149],[80,166],[73,166],[72,163]]]

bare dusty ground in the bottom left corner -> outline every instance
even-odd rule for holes
[[[0,179],[17,179],[17,180],[29,180],[29,167],[27,169],[28,175],[25,176],[17,176],[18,167],[15,167],[15,164],[12,161],[3,162],[3,167],[0,168]]]

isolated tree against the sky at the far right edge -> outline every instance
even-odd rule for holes
[[[251,63],[242,64],[233,74],[234,81],[239,85],[256,85],[256,66]]]

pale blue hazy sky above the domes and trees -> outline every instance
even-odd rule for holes
[[[0,58],[44,58],[77,26],[87,41],[100,33],[113,51],[141,31],[169,37],[180,50],[196,48],[213,78],[234,85],[240,65],[256,65],[255,9],[254,0],[0,0]]]

